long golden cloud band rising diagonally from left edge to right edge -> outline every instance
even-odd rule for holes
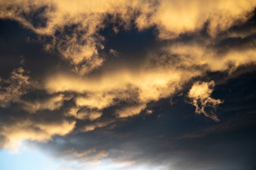
[[[16,103],[24,111],[40,116],[57,112],[63,121],[80,122],[77,129],[73,126],[77,133],[108,129],[113,128],[120,118],[133,117],[143,109],[148,110],[148,103],[173,96],[183,90],[183,86],[190,80],[205,75],[207,71],[232,72],[239,66],[255,62],[253,36],[238,38],[240,43],[237,46],[226,43],[228,45],[225,48],[221,43],[229,37],[197,37],[197,40],[169,43],[153,49],[136,68],[115,65],[113,70],[82,77],[61,71],[51,72],[45,75],[40,85],[31,84],[24,69],[14,70],[9,79],[2,80],[6,83],[2,85],[2,107]],[[15,82],[18,82],[18,85]],[[27,87],[28,84],[31,84],[30,88]],[[12,90],[14,86],[15,90]],[[211,90],[212,84],[207,87]],[[28,100],[28,92],[37,94],[36,90],[43,94],[40,94],[39,98]],[[196,100],[199,111],[203,109],[206,116],[218,120],[214,114],[204,110],[208,106],[216,107],[218,103],[210,98],[211,93],[206,94],[206,99],[195,96],[191,99]],[[213,101],[215,103],[212,103]],[[205,106],[202,108],[201,104]],[[30,118],[28,119],[30,121]],[[27,135],[27,131],[24,134],[27,137],[22,138],[23,140],[37,140]],[[45,135],[44,140],[50,140],[52,136],[63,133],[46,134],[48,135]],[[9,138],[7,133],[3,136]],[[11,140],[4,141],[8,143]]]

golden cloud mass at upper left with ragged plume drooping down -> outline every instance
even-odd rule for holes
[[[103,48],[104,38],[98,32],[104,27],[104,19],[108,14],[118,13],[125,19],[129,16],[129,6],[136,4],[130,1],[2,1],[0,18],[17,20],[39,35],[51,36],[46,49],[56,48],[74,65],[75,71],[87,74],[103,62],[98,50]],[[35,25],[33,14],[45,25]]]

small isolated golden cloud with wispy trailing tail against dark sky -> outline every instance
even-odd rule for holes
[[[223,101],[220,99],[212,99],[210,97],[212,91],[214,91],[214,86],[214,81],[210,81],[208,83],[196,82],[190,88],[188,92],[188,98],[192,100],[191,104],[196,107],[195,112],[197,114],[203,113],[205,116],[210,117],[212,120],[219,122],[219,118],[212,110],[209,110],[208,112],[205,111],[205,109],[209,107],[215,111],[217,106],[223,103]]]

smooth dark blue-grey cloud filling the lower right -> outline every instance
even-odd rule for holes
[[[250,75],[253,74],[254,72]],[[253,126],[255,114],[252,113],[255,108],[253,102],[255,96],[251,95],[251,91],[254,89],[251,82],[254,81],[255,78],[251,76],[242,76],[239,80],[232,79],[229,83],[218,85],[216,94],[226,96],[225,104],[219,109],[218,116],[220,116],[221,122],[218,124],[205,122],[205,120],[191,115],[190,107],[182,100],[172,106],[168,105],[168,100],[162,100],[157,104],[148,104],[155,110],[154,114],[116,119],[115,122],[107,125],[108,120],[105,124],[103,122],[98,124],[99,127],[97,127],[97,122],[101,122],[102,118],[113,116],[112,110],[110,110],[97,121],[84,123],[84,126],[80,128],[87,127],[88,129],[84,129],[86,132],[79,131],[79,133],[63,137],[57,136],[49,143],[40,143],[39,146],[55,153],[58,158],[65,157],[68,160],[75,160],[78,163],[77,166],[82,168],[87,168],[87,166],[79,164],[79,162],[89,161],[86,164],[108,162],[111,164],[108,160],[114,160],[114,164],[117,163],[117,165],[118,162],[134,162],[130,166],[118,167],[118,169],[136,169],[143,165],[148,169],[158,169],[159,167],[165,169],[252,167],[254,160],[247,157],[242,159],[239,153],[247,156],[254,155],[254,151],[251,150],[254,143],[251,134],[255,130]],[[201,84],[202,82],[199,82],[199,85]],[[244,90],[244,85],[249,89]],[[209,86],[208,89],[213,90],[212,86]],[[232,92],[222,93],[229,90]],[[244,95],[245,93],[246,95]],[[211,94],[209,97],[212,98]],[[239,102],[237,102],[237,98],[240,99]],[[233,108],[234,103],[237,109]],[[230,108],[232,108],[231,111],[226,110]],[[247,114],[247,111],[250,113]],[[90,127],[90,125],[94,126]],[[79,127],[78,124],[77,127]],[[235,143],[234,138],[230,138],[230,136],[236,138]],[[240,149],[237,150],[237,148]],[[243,150],[246,152],[241,152]],[[108,156],[96,160],[90,159],[91,155],[102,151]],[[235,165],[233,164],[234,160],[237,162]],[[95,164],[95,166],[99,167],[99,164]],[[88,168],[90,169],[90,167]]]

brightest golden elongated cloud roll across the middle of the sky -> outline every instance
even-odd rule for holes
[[[176,83],[181,81],[181,75],[183,80],[186,80],[190,78],[190,74],[196,76],[198,72],[156,68],[105,72],[101,76],[83,78],[56,74],[46,79],[45,89],[52,93],[63,91],[88,93],[87,96],[76,100],[77,105],[92,107],[98,105],[104,108],[114,102],[111,99],[127,99],[136,97],[135,95],[138,95],[137,98],[141,101],[157,101],[175,92],[178,88]]]

